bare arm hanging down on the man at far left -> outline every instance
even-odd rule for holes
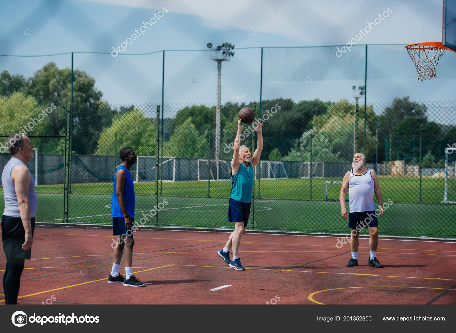
[[[14,182],[14,189],[16,191],[22,225],[26,231],[25,242],[22,244],[22,250],[30,250],[31,245],[33,244],[33,236],[31,234],[30,202],[28,199],[31,181],[30,171],[25,165],[18,165],[11,171],[11,179]]]

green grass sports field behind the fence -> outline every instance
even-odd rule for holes
[[[254,229],[322,233],[347,233],[347,221],[341,217],[338,201],[325,200],[325,181],[342,178],[262,179],[255,181],[255,199],[249,224]],[[456,188],[451,179],[450,188]],[[456,238],[456,204],[440,203],[443,178],[380,177],[383,201],[393,202],[379,218],[381,234]],[[258,188],[259,185],[259,188]],[[161,188],[160,188],[161,186]],[[312,187],[312,191],[311,191]],[[158,224],[232,228],[228,222],[230,181],[163,182],[159,184],[159,202],[167,204],[158,213]],[[258,191],[260,198],[258,198]],[[328,187],[328,198],[338,198],[340,184]],[[37,221],[58,222],[63,217],[63,185],[36,187],[39,209]],[[69,196],[69,220],[75,223],[110,224],[112,183],[72,184]],[[135,184],[138,221],[153,209],[155,182]],[[449,191],[451,195],[454,192]],[[0,193],[3,198],[3,193]],[[450,198],[449,198],[450,199]],[[454,199],[453,199],[454,200]],[[3,209],[3,200],[0,201]],[[147,224],[155,225],[155,216]]]

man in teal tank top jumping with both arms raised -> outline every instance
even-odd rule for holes
[[[241,236],[249,221],[250,201],[252,198],[252,187],[254,184],[254,170],[259,162],[263,150],[263,123],[259,120],[254,123],[254,130],[257,132],[257,149],[254,156],[251,156],[249,148],[240,146],[239,136],[244,125],[241,119],[238,120],[238,133],[234,139],[233,160],[231,160],[231,195],[228,205],[228,221],[234,223],[234,231],[230,234],[225,247],[217,253],[230,267],[236,271],[244,271],[238,256]],[[229,249],[233,247],[233,259],[229,257]]]

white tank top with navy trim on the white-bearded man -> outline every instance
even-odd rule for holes
[[[370,168],[365,174],[357,176],[353,174],[353,169],[350,170],[348,178],[348,211],[367,212],[375,210],[373,202],[373,178],[370,173]]]

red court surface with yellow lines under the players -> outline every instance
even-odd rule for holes
[[[35,231],[19,304],[456,304],[456,242],[380,239],[374,268],[360,239],[359,266],[346,267],[336,237],[244,234],[246,270],[234,271],[216,253],[228,233],[139,230],[133,272],[146,286],[133,288],[107,281],[110,229]]]

